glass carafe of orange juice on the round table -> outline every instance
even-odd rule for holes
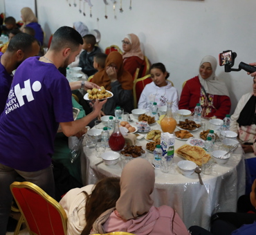
[[[167,101],[167,112],[160,122],[161,129],[163,132],[174,133],[176,124],[177,122],[172,115],[172,102]]]

